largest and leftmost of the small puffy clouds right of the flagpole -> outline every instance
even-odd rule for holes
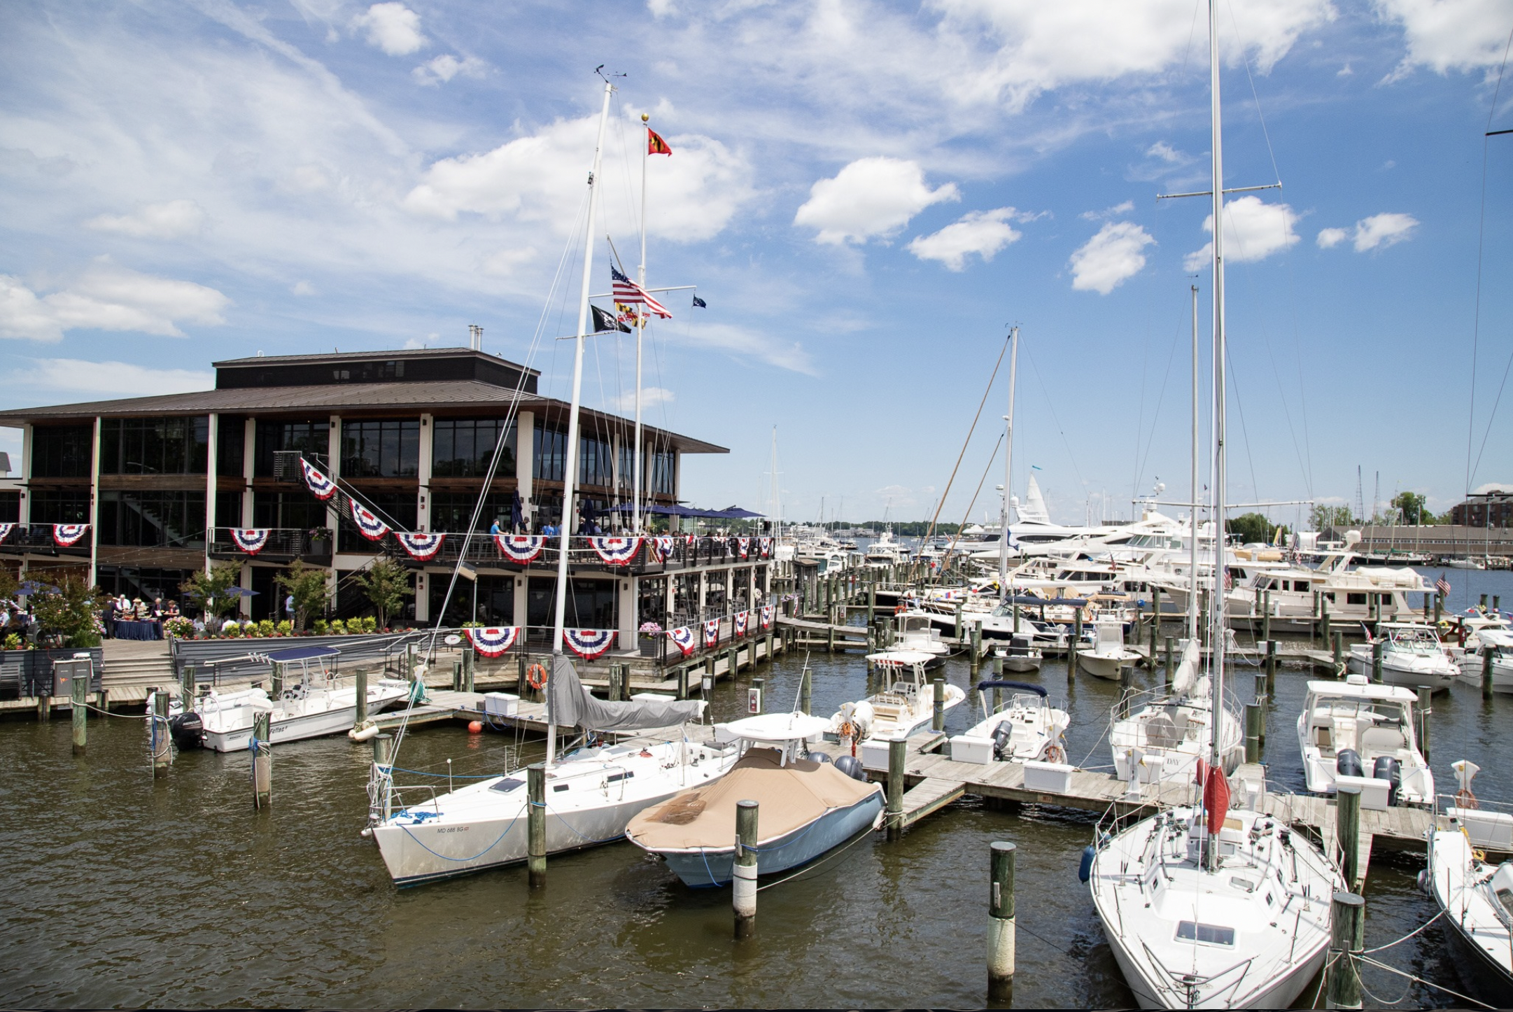
[[[814,183],[793,224],[817,228],[816,242],[865,242],[893,234],[944,200],[961,200],[955,183],[930,189],[918,162],[875,156],[856,159],[832,178]]]

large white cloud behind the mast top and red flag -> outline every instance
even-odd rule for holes
[[[566,231],[583,198],[596,132],[598,116],[558,120],[492,151],[440,159],[402,204],[446,221],[460,213],[510,216]],[[755,195],[750,166],[707,136],[667,135],[667,142],[673,156],[648,175],[649,233],[679,242],[719,234]],[[607,180],[616,168],[611,162],[605,159]],[[614,185],[607,183],[607,192]]]

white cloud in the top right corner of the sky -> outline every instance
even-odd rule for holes
[[[1403,26],[1407,54],[1393,71],[1415,67],[1436,74],[1502,62],[1513,5],[1508,0],[1375,0],[1377,15]]]

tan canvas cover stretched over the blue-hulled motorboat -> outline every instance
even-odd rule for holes
[[[749,749],[708,787],[682,791],[631,820],[625,835],[648,850],[735,846],[735,803],[756,802],[758,846],[812,823],[831,808],[849,808],[876,784],[853,781],[829,762],[797,759],[778,765],[776,749]]]

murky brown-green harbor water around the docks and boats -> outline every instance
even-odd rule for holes
[[[1437,573],[1436,573],[1437,575]],[[1462,579],[1457,579],[1460,576]],[[1508,573],[1451,573],[1513,602]],[[1481,593],[1474,588],[1471,593]],[[1474,599],[1474,598],[1472,598]],[[758,672],[767,708],[787,708],[800,658]],[[812,661],[814,709],[864,693],[859,655]],[[952,661],[964,688],[970,672]],[[1242,669],[1248,687],[1251,670]],[[1106,765],[1101,737],[1117,687],[1039,679],[1073,714],[1073,761]],[[1136,678],[1145,684],[1145,676]],[[1268,712],[1275,781],[1301,788],[1294,722],[1307,673],[1283,670]],[[738,714],[749,675],[723,684]],[[1471,687],[1434,700],[1433,765],[1484,767],[1484,799],[1513,800],[1498,734],[1513,699],[1484,705]],[[947,731],[973,723],[968,705]],[[902,843],[864,838],[817,871],[761,892],[758,933],[731,941],[728,891],[690,891],[629,844],[552,858],[531,894],[523,868],[395,889],[359,837],[369,750],[345,738],[280,746],[271,812],[251,811],[247,753],[182,753],[166,779],[147,768],[139,720],[89,722],[89,755],[70,752],[68,720],[0,725],[0,834],[6,906],[0,1003],[8,1006],[977,1006],[985,1001],[988,844],[1018,852],[1018,1006],[1121,1006],[1120,977],[1077,861],[1091,817],[1024,806],[952,805]],[[457,726],[412,732],[399,764],[457,775],[498,768],[507,735]],[[530,749],[527,749],[530,752]],[[416,778],[410,778],[416,779]],[[1433,917],[1418,892],[1422,858],[1377,853],[1366,886],[1366,945]],[[1387,950],[1392,965],[1463,991],[1442,924]],[[1372,1000],[1454,998],[1380,970]]]

